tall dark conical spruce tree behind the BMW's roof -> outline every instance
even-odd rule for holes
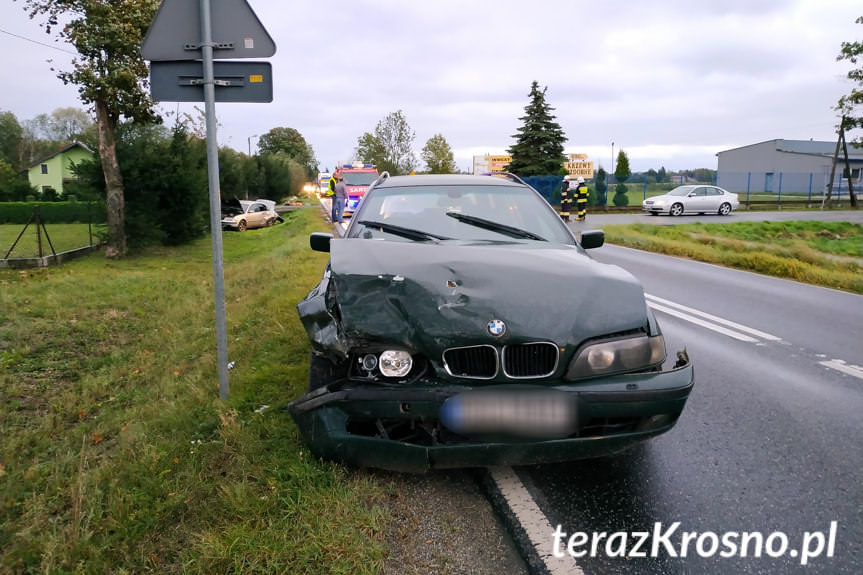
[[[545,101],[548,87],[539,89],[534,80],[530,86],[530,103],[525,106],[525,115],[519,118],[524,124],[514,135],[515,144],[509,148],[512,162],[508,170],[520,176],[547,176],[560,172],[566,161],[563,143],[566,136],[560,124],[554,121],[552,108]]]

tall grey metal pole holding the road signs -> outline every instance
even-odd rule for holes
[[[222,265],[222,200],[219,190],[219,146],[216,141],[216,84],[213,74],[210,0],[201,0],[201,38],[204,110],[207,118],[207,174],[210,182],[210,236],[213,243],[213,292],[216,303],[219,397],[225,400],[228,399],[228,327],[225,319],[225,270]]]

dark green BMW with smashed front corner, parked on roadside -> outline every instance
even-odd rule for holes
[[[514,176],[372,185],[297,305],[320,457],[422,472],[597,457],[670,430],[694,383],[641,284]]]

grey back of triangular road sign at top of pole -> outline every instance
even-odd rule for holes
[[[210,0],[213,58],[269,58],[276,44],[246,0]],[[162,0],[141,44],[145,60],[201,59],[201,2]]]

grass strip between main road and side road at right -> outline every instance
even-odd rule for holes
[[[863,226],[848,222],[736,222],[604,226],[633,248],[863,293]]]

